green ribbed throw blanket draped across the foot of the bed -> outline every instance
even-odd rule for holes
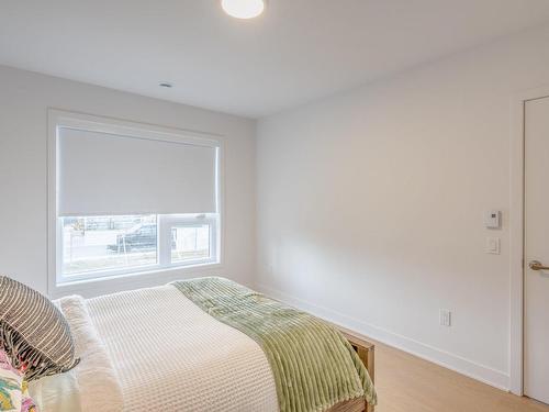
[[[223,278],[172,283],[216,320],[256,341],[271,366],[282,412],[325,411],[377,397],[366,367],[333,326]]]

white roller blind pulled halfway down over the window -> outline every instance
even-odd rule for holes
[[[216,212],[216,147],[58,129],[59,215]]]

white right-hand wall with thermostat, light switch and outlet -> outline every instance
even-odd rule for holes
[[[257,286],[507,388],[512,97],[549,83],[548,44],[539,29],[261,120]]]

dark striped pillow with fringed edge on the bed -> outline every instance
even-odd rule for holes
[[[0,276],[0,345],[29,381],[70,370],[80,360],[57,307],[7,276]]]

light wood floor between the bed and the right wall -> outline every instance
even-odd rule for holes
[[[376,344],[377,412],[549,412],[549,405]]]

